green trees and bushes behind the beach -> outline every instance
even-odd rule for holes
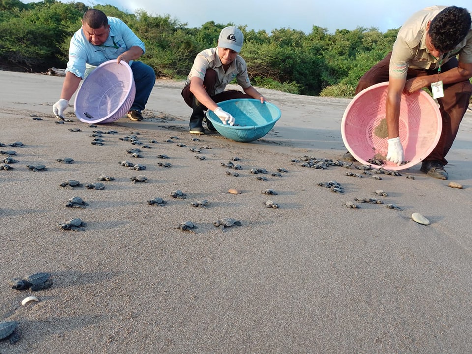
[[[201,50],[216,46],[220,30],[229,25],[213,21],[200,28],[169,16],[135,14],[111,5],[96,5],[108,16],[122,19],[146,45],[142,61],[157,76],[184,78]],[[24,4],[0,0],[0,62],[7,69],[30,72],[65,68],[69,41],[88,9],[81,2],[55,0]],[[352,97],[357,81],[392,48],[398,29],[341,29],[329,34],[313,26],[306,34],[295,29],[254,31],[238,26],[245,42],[241,56],[254,85],[283,92]]]

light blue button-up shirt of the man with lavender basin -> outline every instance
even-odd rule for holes
[[[98,66],[108,60],[117,59],[133,46],[138,46],[145,52],[144,43],[120,19],[107,17],[110,34],[105,43],[99,46],[91,44],[84,36],[82,27],[74,33],[70,40],[69,62],[67,69],[75,76],[84,79],[85,64]],[[132,62],[129,62],[132,65]]]

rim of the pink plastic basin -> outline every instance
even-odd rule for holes
[[[436,124],[438,126],[438,131],[436,132],[436,135],[435,135],[435,138],[430,146],[430,148],[426,149],[423,153],[421,153],[419,155],[418,158],[416,158],[415,160],[412,160],[404,165],[400,165],[400,166],[396,166],[396,165],[393,165],[393,166],[390,166],[390,165],[382,165],[382,166],[379,166],[379,165],[375,165],[375,164],[372,164],[366,160],[364,160],[363,158],[361,158],[357,153],[355,153],[353,151],[353,149],[351,148],[351,146],[348,144],[348,138],[346,137],[346,132],[345,132],[345,127],[346,127],[346,120],[347,120],[347,117],[348,117],[348,114],[351,110],[351,108],[354,106],[354,104],[357,102],[357,100],[359,100],[363,93],[367,92],[367,91],[371,91],[373,89],[377,89],[377,88],[382,88],[382,87],[388,87],[388,81],[384,81],[384,82],[381,82],[381,83],[377,83],[377,84],[374,84],[372,86],[369,86],[368,88],[366,89],[363,89],[361,92],[359,92],[352,100],[351,102],[349,102],[348,106],[346,107],[345,111],[344,111],[344,114],[343,114],[343,118],[341,120],[341,136],[342,136],[342,139],[343,139],[343,143],[344,143],[344,146],[348,149],[348,151],[353,155],[353,157],[365,164],[365,165],[370,165],[371,167],[383,167],[385,169],[388,169],[388,170],[404,170],[404,169],[407,169],[407,168],[410,168],[416,164],[418,164],[419,162],[421,162],[426,156],[428,156],[431,151],[433,151],[433,149],[436,147],[436,145],[438,144],[438,141],[441,137],[441,129],[442,129],[442,117],[441,117],[441,112],[439,111],[439,108],[438,108],[438,105],[436,104],[435,100],[424,90],[420,89],[416,92],[414,92],[413,94],[418,94],[418,96],[422,96],[422,98],[426,99],[427,102],[429,102],[431,104],[431,106],[433,107],[433,110],[436,112]],[[404,96],[405,94],[402,93],[402,96]],[[417,160],[417,161],[416,161]]]

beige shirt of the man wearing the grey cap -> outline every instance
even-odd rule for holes
[[[249,81],[249,76],[247,75],[247,66],[244,59],[238,55],[225,72],[217,50],[218,48],[209,48],[197,54],[192,69],[190,70],[190,74],[188,75],[188,81],[190,81],[194,76],[203,80],[207,69],[213,69],[217,73],[217,79],[215,92],[208,92],[210,96],[223,92],[226,85],[228,85],[234,78],[236,78],[237,83],[241,85],[241,87],[245,89],[250,87],[251,83]]]

